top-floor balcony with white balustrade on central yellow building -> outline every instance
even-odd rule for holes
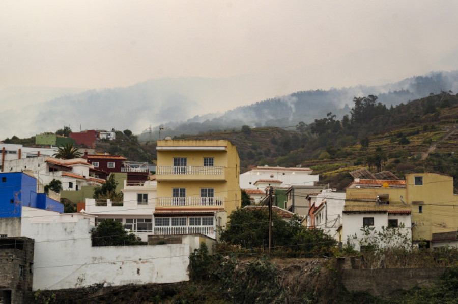
[[[158,166],[158,180],[224,180],[224,167]]]

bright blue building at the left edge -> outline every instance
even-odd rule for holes
[[[0,173],[0,218],[21,217],[22,206],[64,212],[64,205],[37,193],[37,180],[22,172]]]

